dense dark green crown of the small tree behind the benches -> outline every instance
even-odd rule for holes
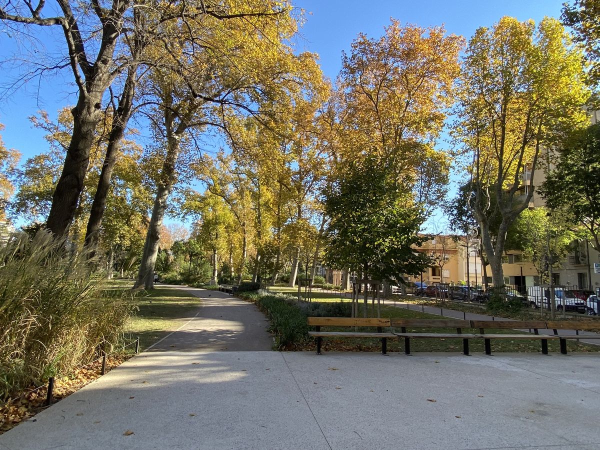
[[[391,173],[389,161],[365,157],[350,163],[326,194],[330,265],[388,279],[416,276],[428,265],[428,257],[412,247],[425,240],[417,235],[421,212],[406,206],[410,200]]]

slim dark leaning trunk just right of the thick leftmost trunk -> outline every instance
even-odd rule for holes
[[[136,72],[137,65],[130,67],[127,71],[127,79],[125,86],[119,98],[119,106],[113,112],[112,125],[110,129],[109,143],[104,156],[104,163],[98,179],[98,187],[94,195],[94,201],[89,213],[88,227],[85,232],[85,245],[94,249],[100,239],[100,227],[102,218],[106,209],[106,197],[110,189],[110,179],[112,178],[113,170],[117,156],[119,154],[121,140],[125,135],[127,122],[131,117],[131,107],[133,106],[133,97],[136,89]],[[95,250],[89,252],[89,258],[94,257]]]

